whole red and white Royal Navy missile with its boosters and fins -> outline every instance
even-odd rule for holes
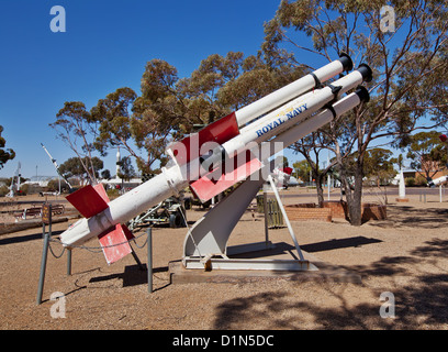
[[[332,72],[329,68],[316,70],[314,76],[313,75],[311,78],[314,82],[329,79],[332,74],[346,69],[347,65],[348,59],[344,56],[340,61],[329,64]],[[365,88],[358,88],[344,98],[341,95],[355,89],[362,81],[370,80],[371,70],[367,65],[361,65],[332,85],[307,92],[313,86],[310,78],[306,79],[302,79],[301,89],[296,88],[305,94],[291,100],[291,94],[283,90],[278,98],[283,102],[280,107],[277,105],[277,108],[272,108],[270,99],[273,98],[267,96],[265,98],[269,99],[260,99],[262,105],[250,108],[250,111],[256,111],[254,114],[261,116],[254,118],[246,112],[239,113],[242,109],[231,114],[231,118],[217,120],[195,135],[170,145],[168,151],[171,162],[161,168],[159,175],[112,201],[104,197],[101,185],[86,186],[67,196],[67,200],[85,218],[60,234],[63,244],[76,246],[94,237],[100,237],[109,244],[122,243],[130,238],[125,222],[164,199],[177,195],[179,190],[190,186],[201,200],[206,200],[249,177],[262,167],[266,156],[275,154],[269,151],[269,155],[257,155],[256,152],[264,145],[277,142],[287,147],[365,101],[368,97]],[[273,97],[278,97],[276,95],[279,92],[275,92]],[[229,167],[222,167],[224,165]],[[107,256],[108,263],[121,255],[119,253],[110,258]]]

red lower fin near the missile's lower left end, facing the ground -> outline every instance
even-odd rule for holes
[[[116,224],[112,231],[108,230],[98,237],[108,264],[112,264],[132,252],[127,242],[134,235],[124,224]]]

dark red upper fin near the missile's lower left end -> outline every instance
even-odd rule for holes
[[[66,199],[87,219],[109,207],[109,198],[101,184],[94,187],[87,185],[68,195]]]

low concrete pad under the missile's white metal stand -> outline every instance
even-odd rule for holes
[[[275,250],[266,250],[239,254],[233,257],[250,257],[250,258],[268,258],[268,260],[298,260],[296,255],[291,248],[285,243],[276,243]],[[181,261],[173,261],[168,264],[168,271],[171,277],[171,284],[197,284],[197,283],[251,283],[260,280],[293,280],[293,282],[306,282],[306,280],[323,280],[335,283],[351,283],[362,284],[361,276],[359,274],[347,271],[340,266],[325,263],[316,256],[302,251],[302,254],[306,261],[309,261],[317,270],[311,271],[267,271],[267,270],[187,270]]]

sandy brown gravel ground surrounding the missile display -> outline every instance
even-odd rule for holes
[[[283,190],[282,198],[287,205],[316,199],[313,191],[296,189]],[[168,263],[182,257],[186,229],[155,228],[154,293],[148,293],[146,272],[138,270],[132,255],[108,266],[102,253],[76,249],[70,276],[66,254],[48,255],[44,301],[37,305],[42,228],[3,234],[0,329],[447,329],[448,204],[439,202],[438,194],[426,202],[418,195],[408,198],[410,202],[396,202],[395,196],[389,196],[388,220],[362,227],[344,220],[292,222],[305,252],[361,275],[360,285],[331,279],[173,285]],[[338,193],[332,199],[339,199]],[[378,199],[366,193],[366,201]],[[189,210],[190,226],[203,213]],[[54,224],[54,238],[67,226]],[[262,216],[247,212],[229,242],[258,242],[264,237]],[[292,244],[285,228],[271,230],[270,240]],[[144,235],[137,244],[145,244]],[[133,248],[146,263],[147,248]],[[61,252],[57,242],[52,249],[56,255]],[[64,294],[64,301],[52,300],[54,293]],[[393,312],[382,306],[383,293],[393,294],[394,317],[380,316],[381,309]],[[65,318],[64,311],[55,310],[63,302]]]

